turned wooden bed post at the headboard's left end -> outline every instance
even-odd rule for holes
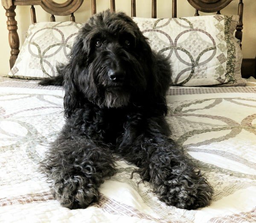
[[[5,7],[4,7],[5,8]],[[6,17],[7,17],[7,29],[9,31],[9,45],[11,47],[11,57],[9,60],[10,68],[14,66],[15,60],[20,52],[20,40],[19,35],[17,34],[17,21],[15,20],[15,9],[16,6],[10,6],[9,9],[6,9]]]

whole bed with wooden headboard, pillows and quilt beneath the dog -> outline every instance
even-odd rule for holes
[[[64,124],[64,92],[60,86],[39,86],[38,80],[54,76],[55,64],[67,61],[81,27],[74,12],[83,1],[2,0],[12,51],[11,71],[0,83],[0,222],[256,222],[256,83],[252,70],[241,74],[242,0],[239,16],[220,12],[231,1],[188,0],[197,16],[176,18],[172,0],[172,18],[157,19],[156,0],[152,18],[137,18],[131,0],[131,15],[152,48],[175,65],[166,119],[171,137],[214,188],[212,203],[197,210],[166,206],[148,182],[141,183],[136,173],[131,178],[136,166],[118,161],[117,174],[100,187],[99,202],[70,210],[53,198],[38,171]],[[115,11],[115,1],[110,2]],[[32,25],[19,50],[15,8],[23,5],[32,5]],[[49,12],[52,22],[36,23],[33,5]],[[217,14],[198,17],[199,11]],[[54,22],[54,15],[67,14],[70,21]]]

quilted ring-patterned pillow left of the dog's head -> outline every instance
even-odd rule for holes
[[[42,79],[55,76],[55,66],[58,63],[67,63],[74,38],[81,25],[75,22],[30,25],[9,77]]]

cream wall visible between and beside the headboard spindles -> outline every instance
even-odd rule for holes
[[[164,0],[158,0],[157,17],[171,17],[172,4],[168,6],[164,5]],[[84,0],[83,6],[76,11],[76,22],[83,23],[90,17],[91,0]],[[236,14],[237,5],[239,1],[234,0],[222,10],[222,14]],[[97,11],[104,10],[110,7],[109,0],[97,0]],[[43,11],[40,6],[35,6],[37,21],[49,21],[50,15]],[[122,10],[130,14],[131,5],[130,0],[116,0],[116,10]],[[16,8],[16,20],[18,23],[18,34],[20,37],[20,46],[25,39],[25,33],[28,26],[31,24],[30,18],[30,6],[17,6]],[[187,3],[187,0],[177,1],[177,17],[193,16],[195,9]],[[200,13],[203,15],[204,13]],[[137,17],[151,17],[151,0],[137,0]],[[67,17],[56,17],[56,21],[68,20]],[[8,42],[8,30],[6,28],[6,16],[3,7],[0,7],[0,75],[6,75],[9,72],[9,57],[10,47]],[[244,0],[244,16],[243,16],[243,41],[242,52],[244,58],[254,58],[256,56],[256,0]]]

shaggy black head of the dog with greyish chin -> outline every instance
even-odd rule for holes
[[[67,117],[84,102],[119,108],[139,103],[154,80],[147,39],[126,14],[103,11],[79,31],[64,72]],[[154,91],[153,89],[151,89]]]

